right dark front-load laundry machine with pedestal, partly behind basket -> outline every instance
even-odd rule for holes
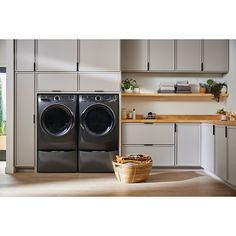
[[[79,96],[79,172],[113,172],[119,153],[119,95]]]

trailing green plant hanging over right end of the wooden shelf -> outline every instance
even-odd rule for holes
[[[212,79],[207,80],[206,83],[200,83],[199,85],[201,87],[205,87],[207,93],[212,93],[213,96],[214,96],[214,99],[217,102],[220,101],[221,90],[225,87],[226,88],[226,93],[228,91],[228,86],[227,86],[226,83],[216,82]]]

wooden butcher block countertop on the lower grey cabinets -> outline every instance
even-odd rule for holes
[[[157,119],[126,119],[122,123],[207,123],[236,126],[236,121],[221,121],[220,115],[158,115]]]

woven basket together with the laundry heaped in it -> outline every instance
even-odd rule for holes
[[[149,177],[152,170],[152,159],[144,154],[116,156],[112,165],[119,182],[138,183],[146,181]]]

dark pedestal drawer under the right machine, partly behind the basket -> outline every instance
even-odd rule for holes
[[[112,160],[116,151],[79,151],[79,172],[113,172]]]

